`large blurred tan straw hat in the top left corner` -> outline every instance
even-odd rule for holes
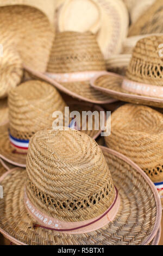
[[[54,38],[53,7],[53,0],[48,4],[44,0],[0,1],[1,37],[8,32],[7,39],[12,36],[23,63],[41,72],[46,71]]]

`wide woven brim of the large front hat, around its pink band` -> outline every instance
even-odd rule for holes
[[[86,234],[33,228],[36,221],[23,204],[26,170],[5,173],[0,184],[0,231],[16,245],[148,245],[158,233],[161,202],[148,176],[126,156],[101,147],[121,198],[114,221]]]

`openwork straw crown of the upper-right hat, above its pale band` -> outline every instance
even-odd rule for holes
[[[149,36],[137,42],[126,72],[129,80],[163,86],[163,59],[159,54],[162,42],[163,36]]]

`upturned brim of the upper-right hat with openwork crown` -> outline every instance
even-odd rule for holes
[[[100,82],[98,81],[100,78]],[[102,76],[93,77],[90,81],[93,89],[99,90],[110,97],[134,104],[142,104],[163,108],[163,99],[126,92],[122,89],[123,76],[105,72]]]

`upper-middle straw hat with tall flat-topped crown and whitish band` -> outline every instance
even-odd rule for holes
[[[103,74],[105,62],[95,35],[91,32],[58,33],[51,51],[46,74],[24,68],[62,92],[92,103],[111,103],[115,100],[90,87],[90,78]]]

